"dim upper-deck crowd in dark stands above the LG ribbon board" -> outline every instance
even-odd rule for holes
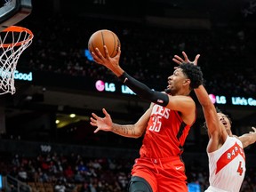
[[[32,15],[22,22],[35,37],[21,55],[20,68],[113,79],[106,68],[96,65],[84,54],[92,33],[108,28],[121,41],[120,64],[156,90],[165,88],[167,76],[175,67],[174,54],[181,55],[185,51],[190,60],[194,60],[197,53],[201,54],[199,66],[204,71],[204,83],[209,92],[252,96],[256,91],[255,28],[160,28],[128,21],[61,15],[47,20]]]

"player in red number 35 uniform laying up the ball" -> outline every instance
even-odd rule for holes
[[[140,98],[152,102],[136,124],[114,124],[106,109],[104,117],[92,113],[94,132],[110,131],[124,137],[139,138],[144,135],[140,158],[132,167],[130,192],[187,192],[185,165],[181,159],[188,131],[196,120],[196,103],[189,93],[203,83],[199,67],[181,64],[168,77],[165,92],[155,92],[147,85],[129,76],[119,66],[121,50],[114,58],[104,58],[98,49],[92,52],[93,60],[109,68]]]

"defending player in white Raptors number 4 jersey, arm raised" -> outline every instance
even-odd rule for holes
[[[185,52],[184,60],[175,55],[173,61],[197,65],[199,54],[191,62]],[[256,141],[256,129],[237,137],[232,134],[231,121],[228,116],[216,110],[209,99],[204,85],[195,89],[196,97],[203,107],[204,118],[208,128],[209,142],[207,155],[209,157],[210,186],[207,192],[239,192],[245,173],[244,148]],[[205,192],[206,192],[205,191]]]

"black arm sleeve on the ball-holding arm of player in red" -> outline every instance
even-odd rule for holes
[[[169,97],[167,94],[149,89],[146,84],[140,83],[132,76],[129,76],[126,72],[124,72],[122,76],[119,76],[119,79],[143,100],[154,102],[163,107],[166,107],[169,103]]]

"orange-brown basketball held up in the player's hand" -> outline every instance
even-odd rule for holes
[[[101,54],[106,57],[103,46],[108,48],[108,54],[111,58],[115,57],[120,46],[118,36],[114,32],[108,29],[101,29],[92,34],[88,42],[88,49],[90,52],[95,52],[95,48],[98,48]],[[96,53],[97,54],[97,53]]]

